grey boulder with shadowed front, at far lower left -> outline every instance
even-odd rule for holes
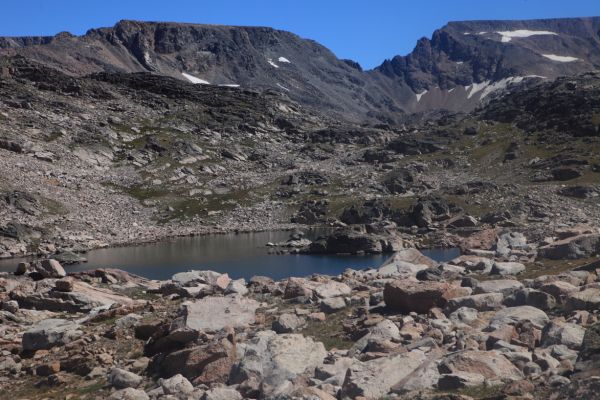
[[[23,334],[23,350],[35,351],[63,346],[83,334],[79,324],[64,319],[45,319]]]

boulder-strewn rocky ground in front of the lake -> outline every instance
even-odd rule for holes
[[[0,397],[597,398],[598,230],[487,243],[277,282],[21,263],[0,276]]]

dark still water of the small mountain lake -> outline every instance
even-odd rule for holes
[[[309,232],[307,237],[320,232]],[[65,266],[67,272],[119,268],[150,279],[168,279],[191,269],[227,272],[232,278],[265,275],[273,279],[314,273],[337,275],[346,268],[381,266],[389,255],[271,255],[268,242],[281,242],[290,232],[256,232],[177,238],[141,246],[98,249],[85,254],[87,263]],[[271,249],[272,250],[272,249]],[[437,261],[459,255],[458,249],[431,249],[423,253]],[[0,260],[0,271],[12,272],[19,260]]]

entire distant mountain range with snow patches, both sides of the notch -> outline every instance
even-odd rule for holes
[[[372,71],[284,31],[121,21],[83,36],[0,38],[69,75],[152,72],[194,83],[272,89],[354,121],[395,121],[402,112],[471,110],[511,86],[595,70],[600,18],[454,22],[407,56]]]

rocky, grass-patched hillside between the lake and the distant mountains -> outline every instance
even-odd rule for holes
[[[382,252],[489,223],[542,235],[600,221],[597,74],[395,126],[275,91],[2,65],[3,258],[305,225],[359,228],[308,251]]]

